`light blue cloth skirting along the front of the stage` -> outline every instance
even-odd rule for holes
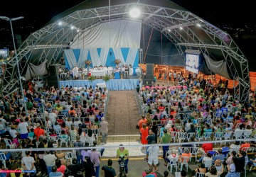
[[[96,79],[94,81],[89,80],[68,80],[68,81],[58,81],[58,86],[77,86],[85,87],[92,86],[95,88],[97,84],[102,84],[104,81],[102,79]],[[105,82],[107,89],[110,91],[125,91],[125,90],[134,90],[139,84],[139,79],[110,79]]]

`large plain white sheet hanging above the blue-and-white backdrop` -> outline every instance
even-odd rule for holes
[[[140,47],[142,22],[139,21],[111,21],[100,23],[82,35],[78,34],[73,48],[105,48],[105,47]],[[79,37],[79,40],[78,40]]]

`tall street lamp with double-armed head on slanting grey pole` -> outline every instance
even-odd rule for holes
[[[25,96],[24,96],[24,93],[23,93],[23,86],[22,86],[22,82],[21,82],[21,73],[20,73],[20,70],[19,70],[19,67],[18,67],[18,57],[17,57],[17,52],[16,52],[15,40],[14,40],[14,30],[12,28],[12,23],[11,23],[11,21],[18,21],[22,18],[24,18],[24,17],[19,16],[19,17],[16,17],[16,18],[9,18],[9,17],[6,17],[6,16],[0,16],[0,19],[5,20],[5,21],[9,21],[10,25],[11,25],[11,35],[12,35],[13,42],[14,42],[15,59],[16,59],[16,64],[17,64],[17,69],[18,69],[18,81],[19,81],[19,84],[20,84],[20,87],[21,87],[21,96],[23,97],[25,112],[26,112],[26,115],[28,116],[28,110],[26,108]]]

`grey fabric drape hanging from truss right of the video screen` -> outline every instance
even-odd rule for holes
[[[230,76],[228,74],[227,63],[225,62],[225,60],[215,61],[206,54],[203,54],[203,56],[205,57],[207,67],[208,69],[210,69],[211,72],[219,74],[220,76],[223,76],[226,79],[230,79]]]

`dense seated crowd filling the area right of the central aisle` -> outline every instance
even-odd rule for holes
[[[137,125],[142,144],[188,142],[180,147],[162,146],[162,157],[166,166],[181,165],[182,169],[183,162],[191,161],[192,155],[201,156],[197,161],[202,163],[201,167],[193,169],[193,175],[219,176],[224,166],[228,169],[227,176],[240,176],[246,166],[255,169],[255,159],[247,156],[247,152],[255,152],[255,142],[246,141],[256,136],[255,93],[250,91],[249,101],[242,104],[230,94],[225,81],[213,85],[210,80],[199,81],[191,74],[183,80],[186,85],[157,84],[137,89],[144,111]],[[212,143],[189,144],[225,139],[241,139],[241,142],[221,147]],[[158,161],[152,163],[151,154],[158,154],[159,148],[154,152],[149,148],[145,160],[149,166],[156,166]]]

